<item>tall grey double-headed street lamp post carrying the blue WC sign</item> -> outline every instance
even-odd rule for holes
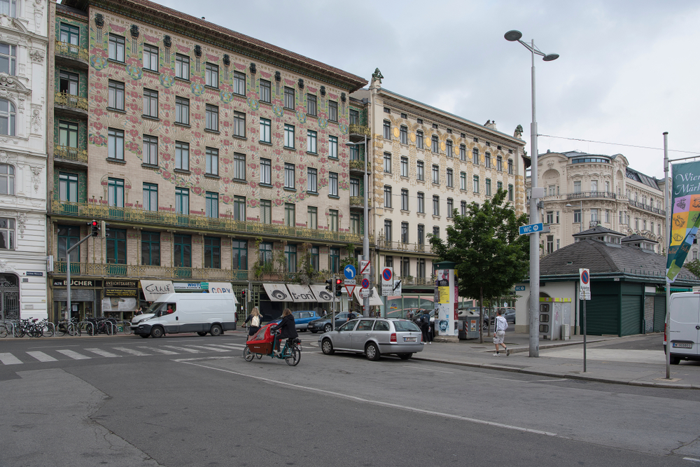
[[[535,47],[534,39],[531,43],[520,40],[522,33],[508,31],[504,37],[506,41],[519,42],[532,54],[532,123],[530,124],[530,151],[531,151],[531,197],[530,197],[530,223],[538,223],[540,216],[538,200],[544,194],[537,190],[537,119],[535,118],[535,54],[540,55],[545,62],[551,62],[559,58],[556,53],[545,54]],[[540,356],[540,232],[530,235],[530,356]]]

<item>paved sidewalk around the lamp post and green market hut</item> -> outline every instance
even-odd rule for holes
[[[630,350],[624,344],[640,340],[663,342],[659,334],[627,337],[587,337],[587,372],[583,372],[583,336],[574,335],[568,341],[540,340],[540,356],[529,357],[529,335],[507,333],[505,344],[510,356],[501,350],[500,357],[493,356],[495,347],[491,337],[479,340],[462,340],[458,343],[433,342],[414,354],[415,360],[464,365],[490,370],[505,370],[570,379],[584,379],[614,384],[663,387],[675,389],[700,389],[700,362],[685,361],[671,365],[671,379],[666,379],[666,356],[659,345],[646,347],[655,350]]]

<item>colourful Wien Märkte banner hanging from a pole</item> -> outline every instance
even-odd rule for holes
[[[666,278],[673,282],[700,227],[700,162],[673,165]]]

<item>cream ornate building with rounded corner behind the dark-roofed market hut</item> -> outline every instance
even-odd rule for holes
[[[654,240],[664,252],[664,181],[632,169],[624,155],[547,152],[538,158],[538,176],[545,188],[541,221],[550,230],[540,236],[542,254],[596,225]]]

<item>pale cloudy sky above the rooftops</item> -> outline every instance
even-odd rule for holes
[[[622,153],[661,178],[671,158],[700,154],[700,2],[500,0],[158,0],[293,50],[384,88],[512,134],[531,122],[531,55],[510,29],[559,60],[537,71],[539,152]],[[695,52],[693,51],[695,50]]]

